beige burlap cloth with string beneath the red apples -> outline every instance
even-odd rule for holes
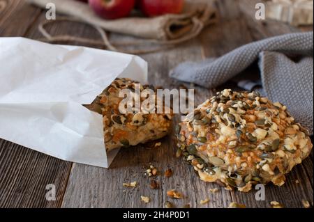
[[[56,6],[58,15],[56,20],[45,19],[38,26],[39,31],[44,35],[47,42],[81,42],[89,45],[105,45],[107,49],[112,51],[124,51],[133,54],[142,54],[151,51],[159,51],[167,47],[172,47],[181,42],[185,42],[199,35],[202,29],[209,24],[213,24],[217,20],[217,13],[214,8],[214,1],[209,0],[198,3],[197,1],[186,1],[184,13],[180,15],[163,15],[160,17],[126,17],[115,20],[105,20],[96,16],[91,8],[80,1],[74,0],[27,0],[35,6],[46,8],[47,3],[53,3]],[[91,40],[80,38],[73,35],[50,35],[45,29],[45,26],[51,22],[84,22],[94,26],[100,33],[101,40]],[[124,35],[133,35],[141,40],[128,42],[128,46],[137,45],[136,50],[117,49],[108,40],[105,31],[120,33]],[[142,40],[145,39],[145,40]],[[153,49],[140,49],[141,45],[153,44]],[[123,44],[122,44],[123,45]],[[126,43],[124,42],[124,45]]]

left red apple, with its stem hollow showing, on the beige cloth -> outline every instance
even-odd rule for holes
[[[135,0],[89,0],[89,6],[104,19],[126,17],[133,10]]]

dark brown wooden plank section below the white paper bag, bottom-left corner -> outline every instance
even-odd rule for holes
[[[71,163],[0,140],[0,207],[59,207]],[[47,201],[47,184],[56,200]]]

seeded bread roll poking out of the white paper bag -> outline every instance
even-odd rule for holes
[[[119,104],[124,99],[119,97],[122,89],[130,90],[141,102],[146,100],[135,93],[135,84],[139,83],[131,79],[116,79],[91,105],[86,106],[91,111],[103,115],[107,151],[153,141],[166,136],[170,130],[172,114],[135,111],[134,105],[133,113],[120,113]],[[140,85],[140,92],[145,89],[155,90],[153,86]]]

